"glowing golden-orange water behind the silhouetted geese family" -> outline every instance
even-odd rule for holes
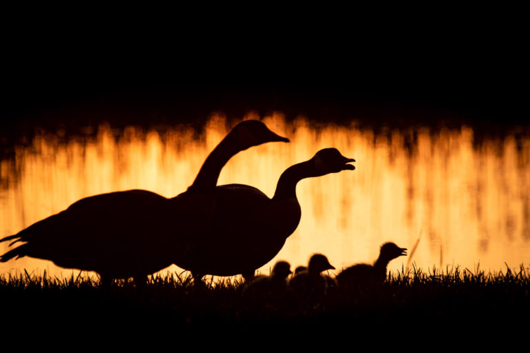
[[[473,130],[467,127],[420,129],[410,139],[413,130],[374,134],[355,125],[287,123],[281,114],[262,120],[291,143],[266,143],[237,154],[219,184],[246,183],[272,196],[283,170],[328,147],[355,158],[357,168],[298,184],[302,221],[262,272],[277,259],[294,268],[314,252],[326,254],[337,269],[373,261],[385,241],[411,254],[418,239],[413,256],[396,259],[391,270],[408,261],[422,268],[474,269],[480,263],[486,270],[530,263],[529,139],[518,145],[508,136],[473,148]],[[193,182],[227,132],[224,119],[215,116],[201,136],[185,126],[165,132],[126,128],[115,136],[108,125],[88,142],[58,143],[57,137],[37,135],[31,148],[17,148],[14,161],[1,161],[0,237],[94,194],[139,188],[175,196]],[[1,253],[7,245],[0,244]],[[0,266],[0,274],[23,268],[72,273],[29,258]]]

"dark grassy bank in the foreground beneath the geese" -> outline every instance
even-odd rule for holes
[[[374,288],[331,288],[325,296],[248,295],[242,283],[196,287],[177,274],[101,289],[97,279],[0,276],[3,334],[61,335],[172,332],[208,337],[234,334],[297,337],[324,334],[344,340],[388,334],[516,334],[530,317],[530,275],[521,266],[487,274],[410,270]],[[521,325],[519,322],[523,320]],[[347,336],[344,336],[344,335]],[[159,339],[159,338],[157,338]]]

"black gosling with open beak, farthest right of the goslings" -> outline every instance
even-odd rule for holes
[[[335,279],[339,287],[383,283],[386,280],[386,266],[399,256],[406,256],[406,248],[400,248],[395,243],[384,243],[373,265],[358,263],[342,270]]]

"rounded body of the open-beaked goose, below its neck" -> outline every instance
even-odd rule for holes
[[[282,249],[300,223],[296,200],[280,205],[275,207],[268,196],[248,185],[218,186],[212,228],[197,232],[186,246],[188,252],[175,257],[175,264],[198,278],[205,274],[251,278],[254,270]]]

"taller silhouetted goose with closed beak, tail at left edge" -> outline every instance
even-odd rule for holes
[[[30,256],[62,268],[95,271],[101,285],[115,278],[145,281],[173,263],[184,234],[193,236],[213,221],[219,173],[240,151],[266,142],[289,140],[260,121],[237,124],[208,155],[192,185],[173,198],[147,190],[127,190],[81,199],[66,210],[0,239],[23,242],[1,262]],[[192,235],[190,235],[192,234]]]

